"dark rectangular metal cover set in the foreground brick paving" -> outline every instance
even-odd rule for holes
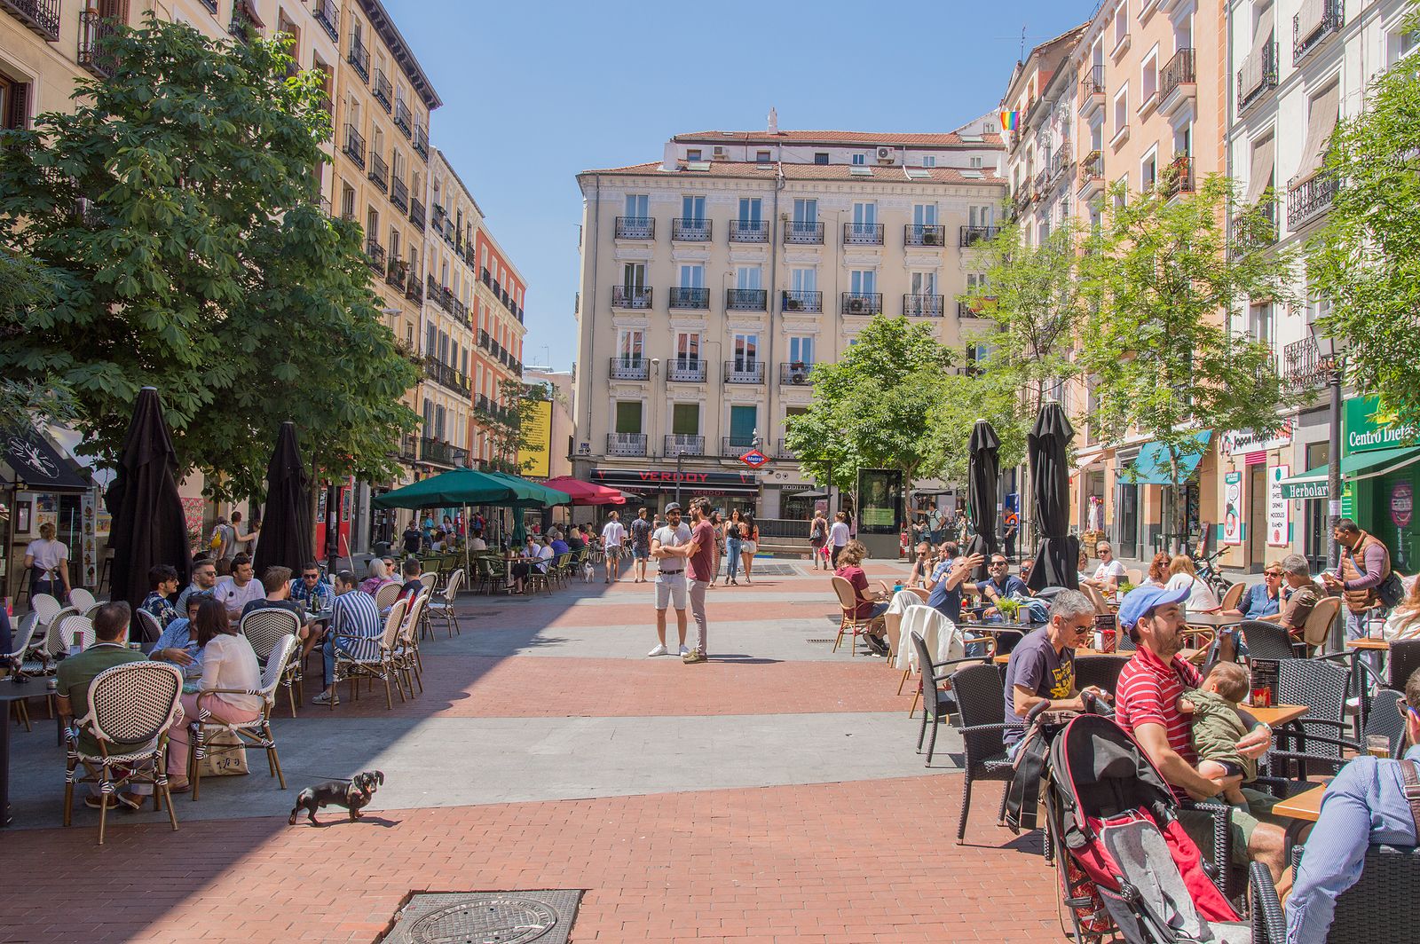
[[[420,893],[383,944],[567,944],[581,890]]]

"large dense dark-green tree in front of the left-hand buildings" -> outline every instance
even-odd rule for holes
[[[0,332],[0,373],[74,389],[85,447],[112,460],[138,390],[163,397],[182,471],[258,494],[280,423],[331,476],[379,481],[417,380],[369,290],[356,224],[315,206],[329,136],[288,38],[214,43],[121,28],[77,109],[0,138],[0,244],[54,304]]]

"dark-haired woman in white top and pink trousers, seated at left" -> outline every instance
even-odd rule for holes
[[[227,619],[222,600],[203,600],[197,608],[197,646],[202,649],[202,690],[183,694],[183,721],[168,731],[168,789],[189,789],[187,752],[192,737],[187,725],[202,711],[216,721],[256,721],[261,714],[261,696],[233,694],[261,688],[261,666],[247,637]]]

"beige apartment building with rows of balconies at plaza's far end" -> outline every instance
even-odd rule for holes
[[[879,312],[958,348],[980,329],[956,298],[1005,190],[998,132],[994,115],[780,131],[771,112],[767,131],[677,135],[660,160],[578,175],[577,476],[804,515],[784,420],[812,366]],[[755,449],[760,468],[741,461]]]

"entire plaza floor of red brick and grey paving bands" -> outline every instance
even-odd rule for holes
[[[0,940],[373,941],[410,891],[513,889],[585,889],[572,941],[1059,940],[1037,838],[995,826],[983,785],[954,845],[958,740],[923,767],[896,673],[808,642],[835,606],[795,571],[710,591],[700,666],[645,657],[645,585],[466,596],[463,635],[423,649],[423,696],[283,708],[290,789],[253,754],[178,798],[178,833],[121,812],[99,847],[82,806],[60,828],[62,751],[37,718],[14,730]],[[388,782],[365,822],[287,826],[301,786],[371,767]]]

